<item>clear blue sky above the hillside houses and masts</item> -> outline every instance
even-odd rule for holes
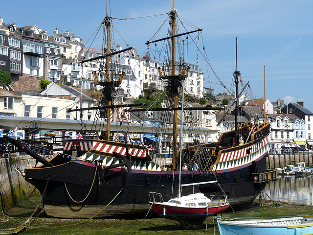
[[[143,55],[145,43],[165,21],[172,0],[109,0],[108,8],[109,16],[129,19],[113,19],[116,43],[126,48],[127,42]],[[237,71],[249,81],[255,97],[264,96],[265,76],[265,97],[271,102],[304,101],[305,108],[313,112],[312,0],[174,0],[174,8],[181,19],[202,29],[199,48],[202,51],[204,45],[214,72],[226,86],[235,71],[237,37]],[[36,24],[50,36],[54,28],[59,33],[68,30],[88,42],[86,46],[105,16],[105,0],[16,0],[14,5],[3,1],[0,8],[5,24]],[[154,17],[130,19],[145,16]],[[156,39],[162,37],[165,35]],[[95,40],[91,47],[101,45]],[[188,49],[188,57],[189,63],[197,63],[196,50]],[[204,86],[214,88],[215,94],[224,92],[209,83],[217,81],[201,56],[199,65],[205,73]]]

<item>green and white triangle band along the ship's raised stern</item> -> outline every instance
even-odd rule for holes
[[[246,164],[253,162],[257,158],[262,156],[264,153],[266,153],[267,151],[268,151],[268,144],[265,145],[263,148],[257,150],[256,152],[249,154],[245,157],[215,164],[213,166],[213,169],[214,170],[226,170],[226,169],[231,169],[231,168],[239,167],[242,165],[246,165]]]

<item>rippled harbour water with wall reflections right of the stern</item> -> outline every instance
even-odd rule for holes
[[[277,181],[269,182],[264,189],[264,196],[274,201],[313,205],[312,176],[280,176]]]

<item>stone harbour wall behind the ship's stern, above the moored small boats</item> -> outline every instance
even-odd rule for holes
[[[306,166],[313,164],[313,154],[269,154],[267,158],[267,168],[283,168],[285,165],[295,165],[305,162]]]

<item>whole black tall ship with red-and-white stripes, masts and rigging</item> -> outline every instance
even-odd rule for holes
[[[158,68],[159,79],[165,86],[164,91],[160,92],[165,95],[161,108],[149,106],[139,109],[133,106],[142,104],[123,105],[114,102],[114,94],[123,81],[124,73],[118,72],[116,68],[118,63],[113,63],[112,60],[119,58],[117,54],[127,49],[121,51],[110,49],[114,48],[110,39],[112,17],[107,13],[103,21],[106,29],[104,54],[93,58],[103,60],[103,70],[94,74],[95,80],[98,80],[97,86],[102,87],[99,106],[94,108],[98,114],[96,117],[99,117],[95,125],[105,127],[98,138],[65,140],[63,154],[45,160],[35,151],[24,148],[22,141],[4,137],[41,163],[34,168],[25,169],[24,173],[26,181],[44,195],[43,205],[47,216],[142,218],[150,208],[149,191],[158,192],[164,198],[171,198],[173,191],[174,194],[178,191],[179,168],[182,167],[179,161],[180,151],[181,162],[189,166],[186,171],[181,172],[181,184],[192,184],[182,189],[182,195],[191,192],[200,192],[205,196],[224,194],[228,196],[228,202],[232,207],[239,207],[250,204],[265,187],[264,179],[272,177],[266,169],[270,131],[270,124],[266,118],[263,120],[255,118],[240,124],[236,118],[236,125],[231,131],[221,134],[217,142],[195,141],[193,145],[178,149],[181,128],[184,134],[189,131],[190,135],[199,133],[195,127],[188,126],[190,112],[197,109],[200,112],[220,110],[221,107],[213,105],[200,108],[184,107],[182,112],[181,93],[190,68],[183,59],[183,48],[179,46],[184,46],[182,37],[192,37],[192,34],[199,34],[201,29],[179,33],[177,28],[179,17],[173,4],[168,19],[170,26],[167,37],[147,42],[147,45],[155,45],[157,42],[165,45],[162,48],[165,51],[164,62]],[[89,59],[82,61],[87,62]],[[233,77],[238,88],[241,76],[237,68]],[[238,89],[236,94],[238,95]],[[238,106],[238,99],[236,105]],[[168,164],[168,169],[154,161],[152,151],[147,147],[130,141],[131,124],[127,131],[123,126],[124,132],[120,132],[124,135],[124,141],[111,141],[113,136],[110,131],[111,117],[116,109],[125,109],[129,114],[133,112],[141,115],[145,112],[150,114],[159,112],[161,114],[159,116],[165,118],[164,121],[157,121],[152,133],[159,141],[165,136],[172,136],[173,160]],[[83,109],[71,111],[81,110]],[[104,113],[108,117],[106,121],[103,118]],[[184,115],[183,119],[186,120],[183,124],[179,123],[181,115]],[[197,138],[200,138],[199,135]],[[240,138],[244,141],[241,145]],[[66,155],[70,157],[64,157]],[[191,170],[194,161],[199,165],[197,170]],[[208,181],[217,182],[194,185]]]

